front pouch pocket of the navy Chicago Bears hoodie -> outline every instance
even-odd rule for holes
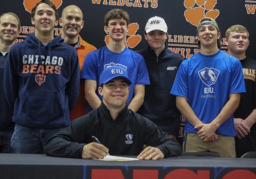
[[[26,91],[22,107],[27,119],[38,120],[40,123],[47,123],[64,114],[57,91]]]

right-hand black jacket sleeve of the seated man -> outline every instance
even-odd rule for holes
[[[149,119],[144,118],[144,120],[146,123],[144,136],[147,146],[159,148],[163,152],[165,158],[181,155],[181,146],[175,139],[171,139],[167,133],[163,132],[161,128],[156,126],[156,124]]]

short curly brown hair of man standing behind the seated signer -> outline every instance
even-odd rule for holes
[[[124,20],[126,20],[127,26],[129,24],[130,21],[130,17],[128,15],[128,13],[122,9],[112,9],[110,11],[108,11],[105,15],[105,26],[108,26],[108,22],[110,19],[121,19],[123,18]]]

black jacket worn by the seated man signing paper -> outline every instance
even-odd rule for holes
[[[170,139],[153,122],[127,106],[113,120],[103,103],[54,135],[47,142],[45,152],[53,156],[81,158],[84,145],[93,142],[92,135],[109,149],[110,155],[139,155],[144,144],[161,149],[164,157],[181,155],[177,141]]]

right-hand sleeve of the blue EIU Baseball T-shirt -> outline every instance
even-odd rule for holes
[[[231,81],[229,94],[246,92],[245,90],[245,80],[243,75],[243,68],[239,60],[234,62],[232,71],[231,71]]]

